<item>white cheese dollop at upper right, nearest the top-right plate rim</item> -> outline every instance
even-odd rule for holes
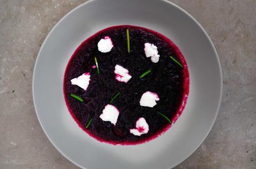
[[[151,61],[153,63],[157,63],[159,61],[160,55],[158,54],[157,47],[151,43],[144,44],[144,52],[146,57],[151,57]]]

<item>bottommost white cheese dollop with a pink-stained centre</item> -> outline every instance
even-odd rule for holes
[[[136,121],[136,128],[130,129],[130,133],[135,136],[141,136],[143,134],[148,133],[149,126],[146,122],[145,118],[141,117]]]

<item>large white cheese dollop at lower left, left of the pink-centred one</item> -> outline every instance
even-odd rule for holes
[[[100,118],[103,121],[110,121],[112,124],[115,125],[117,123],[117,118],[119,116],[119,110],[117,107],[113,105],[107,105],[104,107],[102,114],[100,115]]]

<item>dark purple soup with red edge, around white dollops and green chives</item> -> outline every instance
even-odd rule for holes
[[[127,52],[127,33],[131,52]],[[114,47],[108,53],[98,51],[100,39],[109,36]],[[144,53],[144,43],[157,46],[160,61],[153,63]],[[100,74],[95,65],[94,57],[98,59]],[[182,67],[174,62],[176,58]],[[115,79],[116,64],[129,70],[132,78],[127,82]],[[141,74],[151,69],[151,73],[143,78]],[[90,84],[87,90],[71,84],[70,80],[81,74],[90,73]],[[160,97],[153,108],[142,107],[139,101],[144,92],[156,92]],[[111,105],[119,110],[116,125],[99,118],[103,108],[110,104],[112,97],[120,95]],[[80,102],[70,94],[83,98]],[[67,64],[64,76],[64,96],[67,107],[73,118],[84,131],[99,141],[112,144],[137,144],[157,137],[168,128],[170,123],[163,118],[161,112],[172,122],[181,115],[189,94],[189,72],[187,64],[179,49],[170,39],[152,30],[134,26],[116,26],[104,29],[86,39],[74,52]],[[136,128],[138,118],[144,117],[149,125],[149,131],[141,136],[134,136],[130,129]],[[90,118],[93,118],[86,128]]]

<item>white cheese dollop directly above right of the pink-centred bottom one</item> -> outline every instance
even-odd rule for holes
[[[146,107],[154,107],[156,106],[156,101],[159,101],[160,98],[158,97],[157,93],[153,92],[145,92],[141,96],[141,100],[139,101],[139,105],[146,106]]]

